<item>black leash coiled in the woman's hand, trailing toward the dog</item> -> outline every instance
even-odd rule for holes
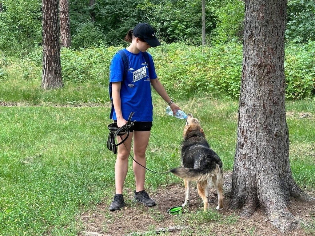
[[[127,121],[127,124],[121,126],[120,128],[118,128],[117,126],[117,122],[111,123],[108,125],[108,130],[109,130],[109,134],[108,134],[108,139],[107,139],[107,148],[112,151],[114,154],[117,153],[117,146],[119,146],[120,144],[122,144],[129,136],[129,128],[134,126],[134,122],[131,122],[131,118],[134,115],[135,112],[131,112]],[[126,137],[120,142],[120,143],[115,143],[115,139],[116,136],[123,136],[126,135]],[[125,145],[125,144],[124,144]],[[126,147],[126,145],[125,145]],[[126,147],[127,149],[127,147]],[[127,149],[128,150],[128,149]],[[142,166],[138,161],[136,161],[132,155],[129,153],[129,156],[132,158],[132,160],[134,160],[138,165]],[[167,174],[170,173],[171,171],[167,171],[167,172],[156,172],[156,171],[152,171],[148,168],[146,168],[145,166],[142,166],[143,168],[147,169],[148,171],[151,171],[153,173],[157,173],[157,174]]]

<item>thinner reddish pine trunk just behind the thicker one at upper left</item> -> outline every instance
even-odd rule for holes
[[[70,20],[69,20],[69,1],[60,0],[60,39],[61,47],[71,46]]]

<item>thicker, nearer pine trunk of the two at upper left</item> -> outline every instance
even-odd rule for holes
[[[63,87],[61,78],[58,1],[43,0],[43,77],[44,89]]]

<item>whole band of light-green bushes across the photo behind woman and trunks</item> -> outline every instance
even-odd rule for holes
[[[96,82],[108,85],[109,65],[122,47],[61,49],[62,78],[72,83]],[[315,42],[288,44],[285,49],[286,97],[311,98],[315,94]],[[242,71],[242,45],[231,42],[213,47],[195,47],[181,43],[151,48],[157,75],[174,98],[211,93],[238,99]],[[25,59],[3,59],[0,80],[14,78],[41,80],[42,52],[38,48]],[[39,82],[37,82],[39,83]]]

